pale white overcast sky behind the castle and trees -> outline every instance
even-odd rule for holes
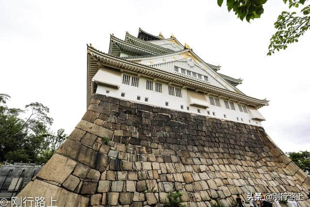
[[[53,129],[70,134],[86,111],[87,43],[108,52],[110,33],[173,33],[220,73],[242,78],[245,94],[270,100],[263,126],[284,152],[310,150],[310,32],[266,56],[287,5],[268,0],[264,8],[249,24],[217,0],[0,0],[0,93],[12,107],[45,104]]]

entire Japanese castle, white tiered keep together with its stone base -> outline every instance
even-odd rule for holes
[[[141,29],[111,35],[107,52],[87,46],[87,110],[16,196],[162,207],[178,191],[187,207],[233,207],[237,196],[249,207],[253,195],[310,207],[310,178],[262,127],[268,101],[211,63],[173,35]]]

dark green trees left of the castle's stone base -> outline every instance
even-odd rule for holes
[[[33,102],[25,109],[9,108],[11,97],[0,94],[0,161],[45,163],[66,138],[50,129],[49,109]],[[25,118],[26,117],[26,118]]]

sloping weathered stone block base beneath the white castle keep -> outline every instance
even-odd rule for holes
[[[142,207],[183,191],[187,206],[203,207],[215,200],[230,206],[247,192],[302,192],[307,199],[306,189],[310,178],[262,127],[96,95],[18,196],[53,196],[57,206]]]

